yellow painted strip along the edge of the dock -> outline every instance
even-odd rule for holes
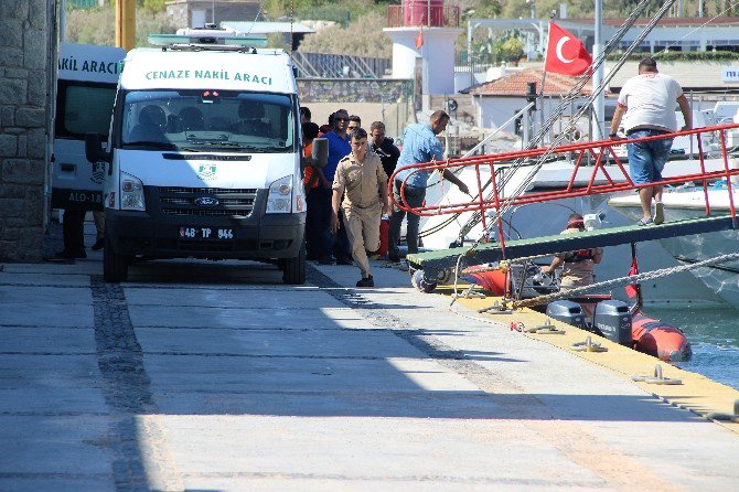
[[[438,289],[442,293],[451,293],[450,289],[443,287]],[[461,289],[460,289],[461,291]],[[501,302],[501,298],[486,297],[485,299],[458,299],[457,303],[470,310],[476,311],[481,308],[489,308],[495,301]],[[490,320],[491,323],[501,323],[508,330],[507,327],[512,322],[521,322],[525,328],[533,328],[543,325],[547,319],[543,314],[531,309],[516,310],[513,313],[490,314],[490,313],[474,313],[474,317],[482,320]],[[557,346],[561,350],[570,352],[580,359],[604,367],[612,373],[631,381],[633,384],[652,394],[653,396],[674,405],[678,408],[692,410],[703,417],[710,413],[733,414],[735,402],[739,400],[739,391],[733,389],[724,384],[709,379],[706,376],[685,371],[674,365],[660,361],[652,355],[636,352],[618,343],[611,342],[608,339],[598,336],[595,333],[571,327],[567,323],[549,319],[550,324],[558,329],[565,330],[565,334],[537,334],[525,333],[522,335],[529,336],[535,340]],[[576,352],[570,349],[570,345],[576,342],[582,342],[588,336],[593,342],[600,343],[601,346],[608,347],[608,352]],[[677,378],[683,382],[682,385],[657,385],[643,382],[633,382],[632,376],[652,376],[655,366],[660,364],[662,367],[663,377]],[[727,429],[739,434],[739,423],[714,420],[715,423],[726,427]]]

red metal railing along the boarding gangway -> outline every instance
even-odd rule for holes
[[[428,162],[428,163],[418,163],[404,167],[403,171],[410,170],[408,175],[405,175],[401,180],[400,186],[400,201],[396,201],[393,195],[393,183],[396,180],[398,172],[401,169],[397,169],[389,179],[388,188],[390,200],[393,204],[406,212],[420,215],[420,216],[435,216],[435,215],[445,215],[445,214],[462,214],[469,212],[479,212],[482,218],[483,228],[488,228],[485,224],[485,212],[495,211],[500,216],[501,210],[504,207],[512,207],[517,205],[534,204],[550,202],[561,199],[572,199],[572,197],[582,197],[597,194],[610,194],[630,190],[640,190],[642,188],[650,188],[654,185],[667,185],[667,184],[683,184],[686,182],[700,182],[704,190],[705,204],[706,204],[706,215],[710,214],[710,204],[708,201],[708,182],[725,178],[727,181],[727,192],[729,195],[729,211],[732,218],[736,218],[736,210],[733,205],[733,186],[730,178],[732,175],[739,174],[739,169],[732,169],[729,165],[729,153],[727,152],[727,138],[726,133],[729,130],[739,129],[739,124],[731,125],[718,125],[714,127],[696,128],[693,130],[677,131],[674,133],[666,133],[654,137],[645,137],[639,139],[618,139],[618,140],[602,140],[593,142],[582,142],[574,143],[568,146],[561,146],[557,149],[529,149],[522,151],[513,152],[503,152],[499,154],[490,156],[475,156],[470,158],[462,159],[449,159],[438,162]],[[722,160],[722,169],[718,171],[708,171],[706,169],[705,160],[708,159],[706,154],[706,149],[703,148],[703,135],[704,133],[717,133],[719,141],[719,149],[715,152],[720,156]],[[645,184],[634,184],[630,174],[624,168],[624,163],[621,161],[621,158],[618,156],[614,147],[622,146],[625,143],[651,141],[651,140],[663,140],[667,138],[675,138],[678,136],[696,136],[698,142],[698,156],[696,160],[695,172],[683,173],[679,175],[672,175],[666,179],[662,179],[657,182],[645,183]],[[546,156],[548,158],[561,158],[568,159],[571,158],[575,162],[572,167],[571,175],[569,177],[568,183],[565,188],[558,190],[548,190],[548,191],[534,191],[527,192],[525,194],[518,194],[513,196],[504,196],[500,191],[496,183],[496,171],[503,167],[512,168],[516,165],[534,165],[537,163],[538,158]],[[592,165],[586,165],[590,161]],[[610,164],[611,172],[618,172],[620,175],[611,175],[609,170],[606,168],[607,164]],[[405,197],[405,188],[409,179],[417,173],[431,173],[438,171],[443,173],[446,170],[449,170],[460,175],[460,172],[465,168],[472,168],[474,170],[473,183],[465,181],[465,184],[470,189],[471,200],[462,202],[448,202],[448,203],[424,203],[421,206],[411,207],[408,205],[408,202]],[[578,172],[581,170],[590,171],[590,177],[587,180],[585,185],[576,185],[576,178]],[[465,175],[469,175],[465,174]],[[483,178],[484,177],[484,178]],[[604,180],[601,178],[604,177]],[[475,194],[476,191],[476,194]],[[488,193],[485,195],[485,193]],[[502,227],[501,221],[497,221],[499,228]],[[504,247],[503,231],[500,231],[501,246]]]

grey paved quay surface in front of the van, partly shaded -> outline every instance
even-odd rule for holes
[[[373,263],[0,271],[0,491],[739,488],[739,436]]]

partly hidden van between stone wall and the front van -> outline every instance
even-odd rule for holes
[[[52,165],[53,208],[103,210],[104,165],[85,157],[87,133],[108,135],[120,47],[61,43]]]

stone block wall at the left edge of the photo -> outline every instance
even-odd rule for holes
[[[0,260],[41,259],[51,120],[52,0],[1,0]]]

